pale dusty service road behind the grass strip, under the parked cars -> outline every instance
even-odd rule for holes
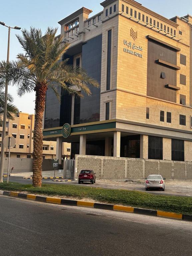
[[[4,181],[7,180],[6,177],[3,178]],[[9,177],[10,182],[18,182],[18,183],[23,183],[23,184],[32,184],[31,179],[23,179],[22,177]],[[77,181],[71,181],[71,182],[55,182],[50,179],[43,179],[43,183],[49,183],[49,184],[71,184],[71,185],[77,185],[77,186],[92,186],[92,187],[101,187],[101,188],[108,188],[108,189],[128,189],[128,190],[136,190],[136,191],[143,191],[147,192],[150,194],[155,194],[155,195],[173,195],[173,196],[189,196],[192,197],[192,189],[188,188],[187,186],[185,187],[177,187],[176,185],[166,185],[165,191],[159,191],[159,190],[149,190],[145,191],[145,186],[144,184],[129,184],[125,182],[125,186],[113,186],[110,184],[90,184],[90,182],[84,183],[84,184],[78,184]]]

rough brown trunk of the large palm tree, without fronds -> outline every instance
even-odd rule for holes
[[[35,87],[35,125],[33,134],[33,186],[41,187],[42,162],[43,162],[43,113],[45,108],[45,96],[47,87],[37,85]]]

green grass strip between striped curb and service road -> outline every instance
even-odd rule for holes
[[[41,188],[34,188],[31,184],[7,184],[4,182],[0,183],[0,190],[27,191],[29,193],[47,194],[49,196],[70,196],[78,199],[85,197],[99,202],[192,215],[191,197],[153,195],[146,192],[123,189],[102,189],[91,186],[62,184],[43,184]]]

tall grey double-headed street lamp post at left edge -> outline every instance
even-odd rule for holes
[[[7,63],[9,62],[9,45],[10,45],[10,31],[11,29],[21,29],[17,26],[10,27],[5,25],[4,22],[0,21],[0,25],[3,25],[9,29],[8,33],[8,46],[7,46]],[[3,113],[3,132],[2,132],[2,143],[1,143],[1,162],[0,162],[0,182],[3,182],[3,165],[4,165],[4,154],[5,154],[5,147],[3,145],[3,140],[5,138],[5,131],[6,131],[6,119],[7,119],[7,94],[8,94],[8,79],[5,81],[5,102],[4,102],[4,113]]]

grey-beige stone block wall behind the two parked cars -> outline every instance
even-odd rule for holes
[[[83,169],[93,170],[97,179],[143,179],[149,174],[161,174],[166,179],[192,179],[192,162],[76,155],[76,178]]]

